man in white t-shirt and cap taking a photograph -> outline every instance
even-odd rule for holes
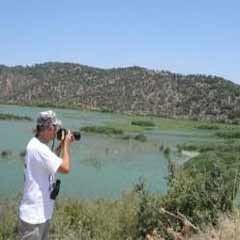
[[[55,138],[61,122],[53,111],[39,113],[36,135],[26,148],[24,170],[24,193],[19,208],[20,238],[27,240],[47,240],[49,222],[54,208],[52,196],[55,173],[70,171],[70,144],[73,136],[68,131],[56,149],[62,158],[52,152],[48,143]]]

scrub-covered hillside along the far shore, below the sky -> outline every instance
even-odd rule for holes
[[[0,65],[0,102],[170,118],[240,120],[240,86],[221,77],[72,63]]]

